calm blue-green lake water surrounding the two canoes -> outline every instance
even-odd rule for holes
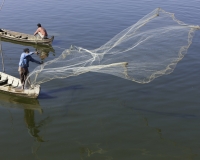
[[[55,36],[48,61],[71,45],[98,48],[157,7],[199,25],[199,6],[198,0],[6,0],[0,28],[34,33],[41,23]],[[6,73],[19,77],[25,46],[1,43]],[[200,159],[199,43],[196,31],[174,72],[148,84],[87,73],[43,83],[37,100],[0,93],[0,159]]]

